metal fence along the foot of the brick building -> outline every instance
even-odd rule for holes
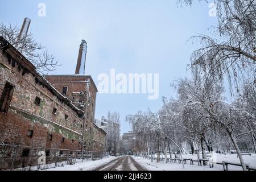
[[[107,152],[42,148],[0,143],[0,170],[39,170],[108,157]]]

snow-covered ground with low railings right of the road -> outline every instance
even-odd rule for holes
[[[190,165],[189,162],[187,164],[184,164],[184,169],[182,167],[182,164],[179,163],[164,163],[159,162],[156,163],[156,160],[153,160],[151,163],[149,159],[143,159],[141,157],[134,157],[137,163],[139,163],[141,166],[145,167],[149,171],[223,171],[222,165],[214,164],[213,168],[209,167],[209,164],[207,166],[198,166],[197,162],[194,162],[194,165]],[[197,155],[183,155],[183,158],[185,159],[197,159]],[[245,160],[246,164],[249,164],[250,167],[256,168],[256,155],[251,154],[251,156],[243,155],[243,159]],[[216,154],[216,161],[217,162],[233,162],[233,163],[240,163],[239,158],[237,158],[236,154]],[[239,166],[232,166],[229,165],[229,170],[238,171],[242,170],[242,167]]]

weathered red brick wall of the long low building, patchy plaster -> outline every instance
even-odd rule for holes
[[[81,148],[82,119],[77,112],[46,86],[36,84],[31,73],[22,76],[18,64],[12,67],[1,49],[0,96],[6,81],[15,88],[8,113],[0,112],[0,142],[73,150]],[[39,106],[34,103],[36,97],[41,99]],[[52,113],[53,107],[57,109],[56,114]],[[67,119],[65,115],[68,115]],[[32,138],[27,137],[28,130],[34,131]],[[51,142],[47,142],[48,134],[52,134]],[[64,142],[61,142],[62,138],[65,138]]]

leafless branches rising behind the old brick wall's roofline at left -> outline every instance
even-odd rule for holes
[[[11,45],[22,52],[40,73],[46,74],[54,71],[59,66],[55,57],[46,50],[46,47],[36,42],[31,32],[19,40],[19,31],[18,26],[0,24],[0,36],[3,36]]]

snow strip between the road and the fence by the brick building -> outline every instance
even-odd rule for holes
[[[104,158],[100,160],[89,160],[86,162],[76,163],[73,165],[65,165],[63,167],[49,168],[45,171],[90,171],[94,168],[100,167],[110,161],[117,159],[117,157],[110,156],[109,158]]]

